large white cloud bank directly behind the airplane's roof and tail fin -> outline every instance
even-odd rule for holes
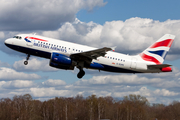
[[[176,38],[169,54],[177,59],[180,50],[179,27],[180,20],[160,22],[135,17],[126,21],[111,21],[99,25],[93,22],[84,23],[76,19],[74,23],[66,22],[58,30],[44,31],[42,35],[98,48],[117,46],[117,52],[137,54],[164,34],[170,33],[176,35]]]

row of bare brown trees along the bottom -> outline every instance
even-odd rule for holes
[[[180,120],[180,102],[150,105],[140,95],[33,100],[29,94],[0,99],[0,120]]]

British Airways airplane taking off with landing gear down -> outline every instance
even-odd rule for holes
[[[50,59],[51,67],[74,70],[79,69],[77,77],[81,79],[83,68],[117,73],[161,73],[172,72],[171,65],[163,61],[175,36],[165,34],[154,44],[137,55],[114,52],[114,48],[94,48],[67,41],[43,37],[36,34],[18,34],[5,40],[5,45],[13,50],[27,54],[24,65],[30,55]]]

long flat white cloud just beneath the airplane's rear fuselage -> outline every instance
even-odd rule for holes
[[[103,75],[93,76],[89,80],[79,80],[76,85],[144,85],[144,84],[155,84],[160,83],[163,80],[160,78],[148,79],[146,77],[140,77],[139,75],[133,74],[121,74],[121,75]]]

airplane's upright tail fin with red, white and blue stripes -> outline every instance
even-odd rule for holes
[[[153,45],[151,45],[141,54],[139,54],[140,57],[145,61],[154,62],[156,64],[162,64],[174,41],[174,38],[174,35],[165,34]]]

